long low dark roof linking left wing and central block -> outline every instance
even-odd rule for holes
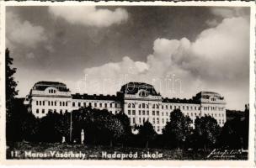
[[[120,97],[117,97],[115,95],[88,95],[88,94],[72,94],[72,99],[87,99],[87,100],[112,100],[112,101],[118,101],[120,100]]]

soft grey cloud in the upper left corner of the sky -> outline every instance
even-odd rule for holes
[[[45,29],[41,26],[31,24],[27,20],[21,20],[16,13],[8,11],[6,14],[7,46],[15,47],[22,45],[35,48],[41,41],[45,41]]]

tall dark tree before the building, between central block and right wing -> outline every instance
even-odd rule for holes
[[[163,139],[168,146],[182,147],[192,133],[192,120],[180,111],[174,109],[170,115],[170,121],[163,129]],[[170,144],[171,143],[171,144]]]

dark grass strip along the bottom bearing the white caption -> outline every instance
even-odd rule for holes
[[[224,151],[223,151],[224,152]],[[88,146],[83,144],[13,143],[8,144],[7,159],[56,160],[247,160],[247,152],[167,150]]]

